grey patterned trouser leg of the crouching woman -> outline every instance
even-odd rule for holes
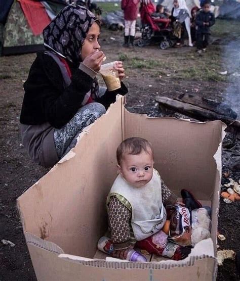
[[[79,133],[105,112],[105,107],[102,104],[85,105],[77,111],[66,125],[54,130],[53,138],[59,159],[76,145],[76,138]]]

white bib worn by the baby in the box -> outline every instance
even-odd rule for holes
[[[162,203],[162,181],[156,170],[153,170],[152,179],[142,188],[135,188],[118,175],[109,195],[112,193],[125,197],[131,204],[131,224],[137,241],[163,228],[167,215]]]

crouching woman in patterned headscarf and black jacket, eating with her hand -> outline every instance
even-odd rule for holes
[[[84,127],[105,113],[121,88],[98,87],[100,23],[84,7],[65,7],[44,29],[45,52],[38,53],[24,83],[20,116],[22,142],[31,159],[51,167],[76,145]],[[122,80],[122,62],[115,65]]]

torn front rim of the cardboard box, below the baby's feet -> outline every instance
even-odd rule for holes
[[[81,263],[88,266],[107,267],[107,268],[154,268],[154,269],[170,269],[172,267],[179,266],[192,266],[194,261],[198,259],[213,258],[214,247],[211,238],[203,240],[195,245],[191,250],[191,253],[187,258],[180,261],[175,260],[164,260],[164,261],[148,261],[148,262],[129,262],[127,260],[120,260],[112,258],[110,256],[103,259],[91,259],[81,256],[75,256],[64,253],[64,251],[57,246],[55,243],[43,240],[41,238],[32,235],[31,233],[25,232],[26,242],[29,245],[34,245],[46,251],[53,252],[58,255],[61,259],[67,259],[72,262]]]

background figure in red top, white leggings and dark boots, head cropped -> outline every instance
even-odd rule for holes
[[[121,8],[124,11],[124,47],[134,45],[135,26],[138,17],[139,0],[122,0]]]

